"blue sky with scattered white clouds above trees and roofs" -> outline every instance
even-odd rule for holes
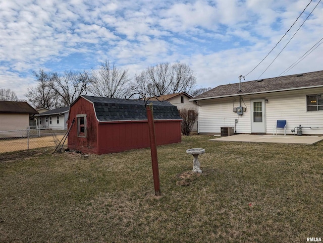
[[[26,99],[32,71],[90,70],[104,60],[133,77],[158,63],[192,67],[197,88],[239,82],[295,22],[310,0],[0,0],[0,88]],[[319,0],[246,81],[279,76],[323,37]],[[323,44],[289,74],[322,70]]]

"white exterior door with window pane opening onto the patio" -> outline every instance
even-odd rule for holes
[[[251,133],[266,133],[265,100],[251,100]]]

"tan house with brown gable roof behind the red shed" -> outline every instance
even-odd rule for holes
[[[197,102],[189,101],[192,96],[189,94],[182,92],[176,94],[167,94],[167,95],[160,95],[156,97],[158,100],[166,100],[170,102],[172,105],[176,105],[178,110],[187,109],[189,112],[197,112]],[[197,123],[195,123],[192,131],[197,131]]]

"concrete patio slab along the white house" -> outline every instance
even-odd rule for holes
[[[323,140],[321,136],[295,136],[295,135],[249,135],[237,134],[233,136],[210,139],[209,141],[249,142],[249,143],[289,143],[289,144],[315,144]]]

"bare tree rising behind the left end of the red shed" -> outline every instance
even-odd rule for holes
[[[87,71],[65,71],[63,74],[51,73],[49,87],[64,105],[71,105],[79,95],[87,93],[89,83]]]

